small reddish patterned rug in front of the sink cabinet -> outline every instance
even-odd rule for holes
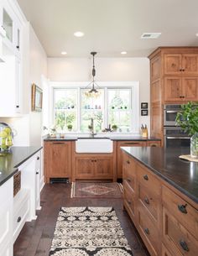
[[[73,182],[70,197],[122,197],[122,184],[117,182]]]

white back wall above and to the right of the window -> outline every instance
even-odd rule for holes
[[[149,60],[147,58],[96,58],[96,81],[139,81],[140,102],[150,102]],[[91,81],[92,60],[48,58],[50,81]],[[149,106],[149,104],[148,104]],[[150,117],[140,117],[150,126]]]

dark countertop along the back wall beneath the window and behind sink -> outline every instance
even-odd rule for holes
[[[128,140],[133,140],[133,141],[153,141],[153,140],[155,140],[155,141],[160,141],[160,138],[153,138],[153,137],[148,137],[148,138],[143,138],[143,137],[141,137],[141,136],[139,136],[139,137],[137,137],[137,136],[112,136],[112,135],[110,135],[110,136],[108,136],[108,134],[104,134],[104,136],[102,135],[102,136],[100,136],[100,135],[97,135],[97,136],[95,136],[95,137],[90,137],[89,135],[87,135],[87,136],[81,136],[81,135],[76,135],[76,136],[74,136],[74,137],[65,137],[65,138],[60,138],[60,137],[55,137],[55,138],[53,138],[53,137],[46,137],[46,138],[44,138],[44,141],[74,141],[74,140],[77,140],[78,138],[98,138],[98,139],[100,139],[100,138],[110,138],[110,139],[112,139],[112,140],[116,140],[116,141],[119,141],[119,140],[122,140],[122,141],[128,141]]]

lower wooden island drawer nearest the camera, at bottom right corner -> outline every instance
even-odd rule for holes
[[[198,241],[164,207],[163,207],[163,240],[164,240],[164,243],[168,245],[168,248],[170,248],[170,251],[172,251],[173,253],[179,251],[181,255],[189,255],[189,256],[197,255]]]

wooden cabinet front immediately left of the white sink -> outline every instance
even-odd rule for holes
[[[49,183],[50,178],[70,178],[71,175],[71,142],[44,142],[44,177]]]

